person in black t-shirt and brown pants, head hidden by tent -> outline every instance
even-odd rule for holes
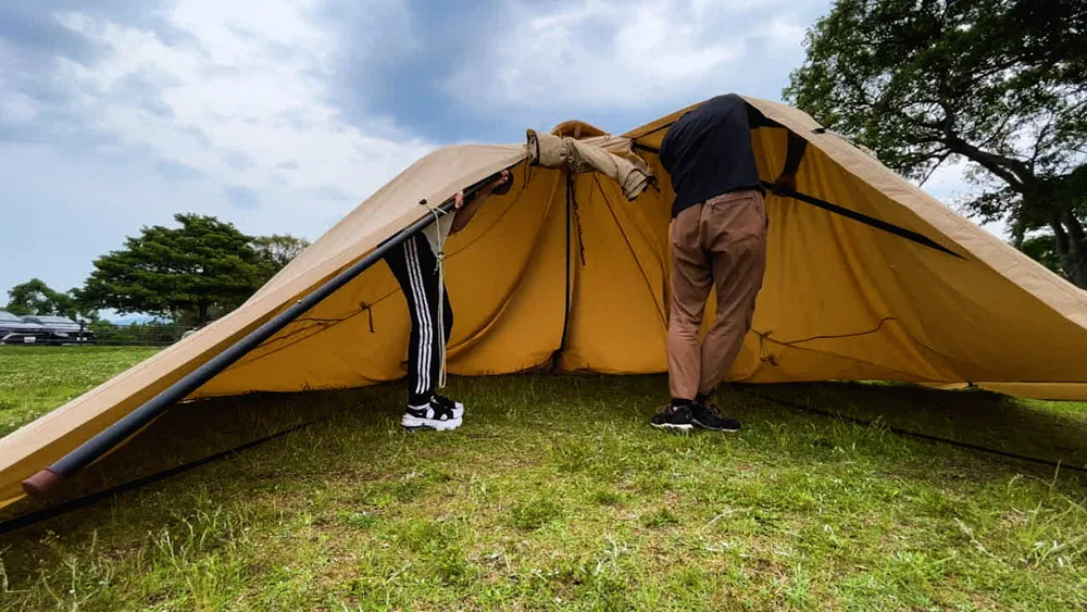
[[[737,432],[723,417],[713,392],[739,353],[751,327],[755,297],[766,268],[769,220],[751,130],[773,126],[742,98],[717,96],[684,114],[664,135],[660,159],[672,177],[672,311],[669,320],[670,405],[651,424]],[[788,133],[785,168],[774,191],[796,190],[807,141]],[[700,342],[702,314],[715,289],[717,312]]]

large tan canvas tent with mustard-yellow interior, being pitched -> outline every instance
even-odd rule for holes
[[[1087,399],[1087,293],[807,114],[747,100],[810,146],[798,175],[805,199],[767,196],[765,284],[732,379],[974,383]],[[530,134],[529,146],[448,147],[420,160],[235,312],[0,439],[0,504],[22,497],[23,478],[430,214],[422,200],[446,201],[504,167],[510,192],[446,243],[449,373],[664,372],[672,191],[655,150],[682,112],[623,136],[570,122],[552,133],[562,138]],[[773,180],[786,133],[752,139]],[[408,334],[403,297],[378,263],[191,397],[398,379]]]

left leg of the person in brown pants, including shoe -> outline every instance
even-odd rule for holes
[[[669,409],[653,417],[657,427],[691,428],[689,407],[701,378],[699,342],[702,313],[713,286],[701,243],[701,207],[691,207],[672,220],[672,300],[669,315]]]

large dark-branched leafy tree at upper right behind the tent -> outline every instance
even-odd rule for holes
[[[966,161],[964,210],[1087,288],[1087,2],[838,0],[805,46],[790,103],[922,183]]]

